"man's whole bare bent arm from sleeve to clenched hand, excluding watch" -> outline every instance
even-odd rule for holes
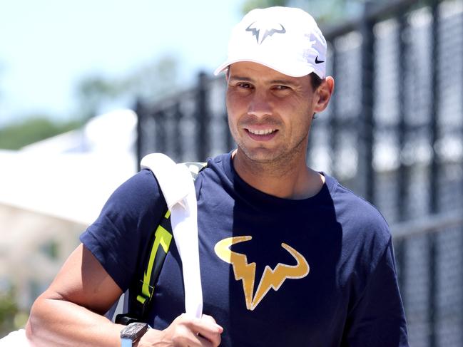
[[[82,244],[31,309],[26,335],[32,346],[121,346],[123,326],[102,316],[122,291]],[[218,346],[213,318],[182,315],[164,331],[150,329],[138,346]]]

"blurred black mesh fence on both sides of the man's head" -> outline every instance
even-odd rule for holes
[[[369,5],[325,36],[335,94],[307,162],[392,226],[411,345],[463,346],[463,1]],[[138,157],[200,161],[234,147],[223,76],[200,74],[136,111]]]

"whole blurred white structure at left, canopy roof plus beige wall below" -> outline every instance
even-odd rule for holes
[[[0,290],[28,309],[111,192],[136,172],[136,114],[117,110],[83,129],[0,150]]]

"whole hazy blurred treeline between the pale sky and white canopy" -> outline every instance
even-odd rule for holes
[[[115,100],[133,103],[138,97],[151,101],[164,98],[178,89],[177,70],[178,61],[165,56],[123,76],[86,76],[76,88],[76,113],[80,120],[56,122],[45,115],[29,116],[0,127],[0,148],[19,150],[25,145],[80,128],[86,120],[98,114],[102,106]]]

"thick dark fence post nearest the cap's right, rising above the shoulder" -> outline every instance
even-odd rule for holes
[[[359,172],[363,172],[365,180],[360,187],[360,192],[368,201],[375,203],[375,173],[373,172],[373,136],[374,136],[374,75],[375,75],[375,36],[373,33],[374,22],[368,13],[373,4],[365,3],[364,16],[360,26],[362,34],[362,110],[360,111],[359,144]]]

